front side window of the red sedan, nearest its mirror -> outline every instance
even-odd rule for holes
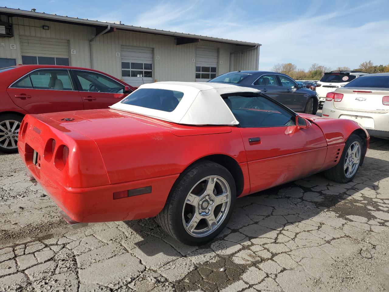
[[[73,71],[81,84],[81,91],[124,93],[124,85],[95,72]]]

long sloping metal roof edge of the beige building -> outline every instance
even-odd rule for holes
[[[104,28],[107,27],[108,24],[110,24],[111,28],[116,28],[116,30],[124,30],[124,31],[138,32],[138,33],[149,33],[154,35],[165,35],[165,36],[179,37],[179,38],[200,39],[209,42],[221,42],[225,44],[235,44],[240,46],[261,46],[261,44],[257,44],[254,42],[243,42],[240,40],[221,39],[217,37],[208,37],[205,35],[193,35],[193,34],[182,33],[182,32],[171,32],[168,30],[157,30],[154,28],[144,28],[140,26],[124,25],[118,23],[111,23],[107,21],[98,21],[98,20],[90,20],[90,19],[84,19],[78,17],[61,16],[57,14],[27,11],[27,10],[16,9],[16,8],[0,7],[0,13],[8,16],[43,19],[47,21],[56,21],[62,23],[104,27]]]

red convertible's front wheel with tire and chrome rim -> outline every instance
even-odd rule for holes
[[[348,183],[352,181],[363,162],[364,151],[366,151],[364,145],[360,136],[351,134],[346,141],[338,164],[323,171],[324,176],[337,183]]]

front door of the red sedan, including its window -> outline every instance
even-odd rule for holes
[[[72,70],[84,109],[106,109],[123,99],[124,85],[98,72]]]

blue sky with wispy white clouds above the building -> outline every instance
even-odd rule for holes
[[[389,63],[387,0],[39,0],[1,6],[262,44],[259,68]]]

